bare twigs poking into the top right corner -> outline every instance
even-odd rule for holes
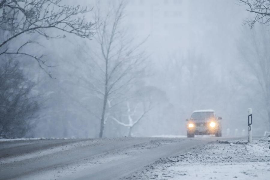
[[[247,5],[246,11],[255,14],[253,19],[247,19],[246,23],[252,28],[256,22],[270,23],[270,0],[238,0],[240,5]]]

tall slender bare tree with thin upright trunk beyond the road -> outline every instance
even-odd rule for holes
[[[91,48],[91,59],[87,61],[88,77],[81,77],[84,86],[102,101],[100,115],[100,133],[103,136],[104,125],[108,119],[108,108],[113,108],[128,99],[128,92],[137,78],[144,74],[145,53],[142,43],[135,44],[124,29],[125,3],[109,9],[103,17],[98,8],[95,17],[98,22],[95,42],[98,48]],[[135,45],[134,45],[135,44]],[[88,50],[89,51],[89,50]],[[90,62],[90,63],[89,63]]]

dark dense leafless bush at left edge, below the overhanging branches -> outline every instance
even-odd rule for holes
[[[22,137],[32,128],[38,103],[29,81],[14,60],[0,62],[0,138]]]

